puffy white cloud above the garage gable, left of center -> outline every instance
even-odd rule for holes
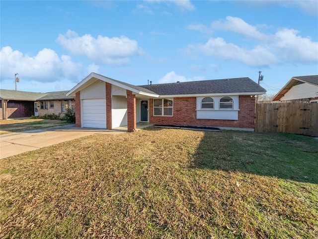
[[[90,34],[79,36],[75,31],[68,30],[57,38],[64,48],[75,55],[84,55],[88,59],[110,65],[124,65],[130,62],[129,57],[143,53],[138,42],[126,36],[107,37]]]

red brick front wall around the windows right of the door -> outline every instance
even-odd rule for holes
[[[239,96],[239,119],[196,119],[196,97],[173,98],[173,116],[153,116],[153,99],[149,101],[150,123],[196,126],[254,128],[255,98]]]

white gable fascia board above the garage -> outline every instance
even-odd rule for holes
[[[134,92],[136,94],[140,94],[140,95],[144,95],[144,96],[150,96],[150,97],[159,97],[159,95],[155,95],[155,94],[151,94],[151,93],[145,93],[145,92],[142,92],[142,91],[138,91],[134,88],[131,88],[129,86],[126,86],[124,84],[121,84],[117,81],[113,81],[112,79],[108,78],[108,77],[105,77],[105,76],[101,76],[101,75],[98,75],[96,73],[90,73],[88,76],[86,76],[81,82],[79,82],[79,84],[77,84],[72,90],[70,90],[66,95],[67,96],[71,96],[71,95],[74,95],[77,91],[81,90],[82,86],[88,82],[91,78],[95,78],[95,79],[98,79],[98,80],[101,80],[101,81],[104,81],[104,82],[107,82],[109,84],[112,84],[114,86],[118,86],[120,88],[123,88],[123,89],[126,89],[128,91],[131,91],[131,92]],[[92,82],[93,83],[93,82]]]

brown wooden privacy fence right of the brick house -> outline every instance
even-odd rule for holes
[[[256,104],[255,131],[318,136],[318,103]]]

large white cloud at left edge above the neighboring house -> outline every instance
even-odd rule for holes
[[[0,64],[1,80],[10,79],[17,72],[21,79],[45,82],[76,78],[81,67],[70,56],[60,58],[52,49],[44,48],[36,56],[28,56],[10,46],[1,48]]]

